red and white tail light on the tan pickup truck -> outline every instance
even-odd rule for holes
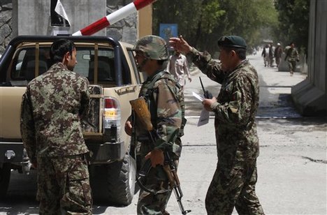
[[[110,136],[110,141],[112,142],[117,141],[120,138],[121,117],[119,101],[116,98],[105,97],[103,110],[103,131],[105,131],[105,135]]]

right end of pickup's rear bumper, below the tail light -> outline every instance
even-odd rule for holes
[[[105,142],[102,144],[87,144],[91,152],[91,163],[108,163],[122,160],[125,155],[124,142]]]

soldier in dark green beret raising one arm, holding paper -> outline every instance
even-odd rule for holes
[[[183,38],[170,38],[173,47],[187,53],[210,79],[221,84],[217,98],[204,99],[206,110],[215,112],[218,163],[205,198],[208,214],[263,214],[255,193],[259,139],[255,115],[259,105],[256,69],[246,59],[246,43],[239,36],[218,40],[219,60],[198,52]]]

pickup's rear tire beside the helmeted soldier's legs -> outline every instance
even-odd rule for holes
[[[123,161],[90,168],[94,201],[112,206],[131,204],[136,184],[136,161],[126,154]]]

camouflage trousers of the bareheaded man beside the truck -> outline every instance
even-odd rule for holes
[[[92,193],[84,155],[38,156],[40,214],[92,214]]]

